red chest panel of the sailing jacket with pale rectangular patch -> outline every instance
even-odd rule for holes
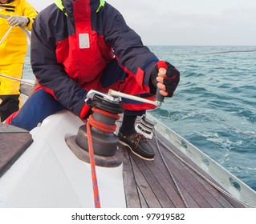
[[[57,42],[56,55],[67,74],[83,86],[101,74],[113,58],[113,52],[104,37],[91,30],[91,9],[87,1],[73,2],[73,6],[75,34]]]

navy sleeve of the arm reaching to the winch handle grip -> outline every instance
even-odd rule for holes
[[[120,66],[128,74],[136,75],[136,82],[149,91],[151,72],[159,59],[143,45],[140,36],[126,24],[118,10],[106,3],[102,13],[105,42],[112,46]]]

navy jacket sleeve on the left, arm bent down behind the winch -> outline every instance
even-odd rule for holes
[[[49,10],[35,18],[31,32],[30,61],[35,77],[43,89],[52,94],[68,110],[80,116],[87,91],[72,80],[55,56],[54,26],[50,25]],[[46,26],[48,24],[48,26]]]

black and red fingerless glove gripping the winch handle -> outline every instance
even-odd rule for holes
[[[158,81],[156,77],[158,76],[158,70],[160,68],[165,68],[166,77],[164,78],[163,84],[165,85],[165,91],[168,92],[166,97],[171,98],[173,96],[174,91],[176,90],[179,82],[180,82],[180,72],[176,67],[171,65],[169,62],[159,61],[156,63],[156,66],[153,68],[151,73],[151,81],[153,86],[157,88]]]

